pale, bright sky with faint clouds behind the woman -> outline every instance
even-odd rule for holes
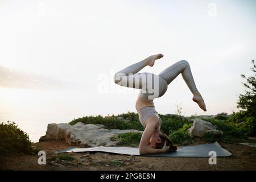
[[[139,90],[115,85],[115,72],[163,53],[158,74],[191,65],[207,112],[181,75],[154,103],[160,114],[232,114],[256,53],[256,1],[0,0],[0,121],[37,140],[47,123],[135,110]],[[31,137],[32,136],[32,137]]]

